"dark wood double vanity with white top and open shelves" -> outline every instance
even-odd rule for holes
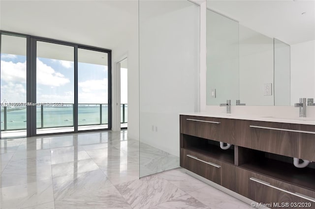
[[[315,209],[315,163],[293,158],[315,161],[314,120],[180,115],[181,167],[271,208]]]

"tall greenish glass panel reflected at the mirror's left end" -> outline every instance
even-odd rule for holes
[[[207,105],[239,99],[238,25],[207,9]]]

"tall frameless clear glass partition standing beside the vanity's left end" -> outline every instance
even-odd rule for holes
[[[179,113],[199,109],[200,8],[139,1],[140,177],[179,167]]]

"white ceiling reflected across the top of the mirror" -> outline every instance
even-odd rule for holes
[[[207,7],[289,45],[315,39],[315,0],[207,0]]]

